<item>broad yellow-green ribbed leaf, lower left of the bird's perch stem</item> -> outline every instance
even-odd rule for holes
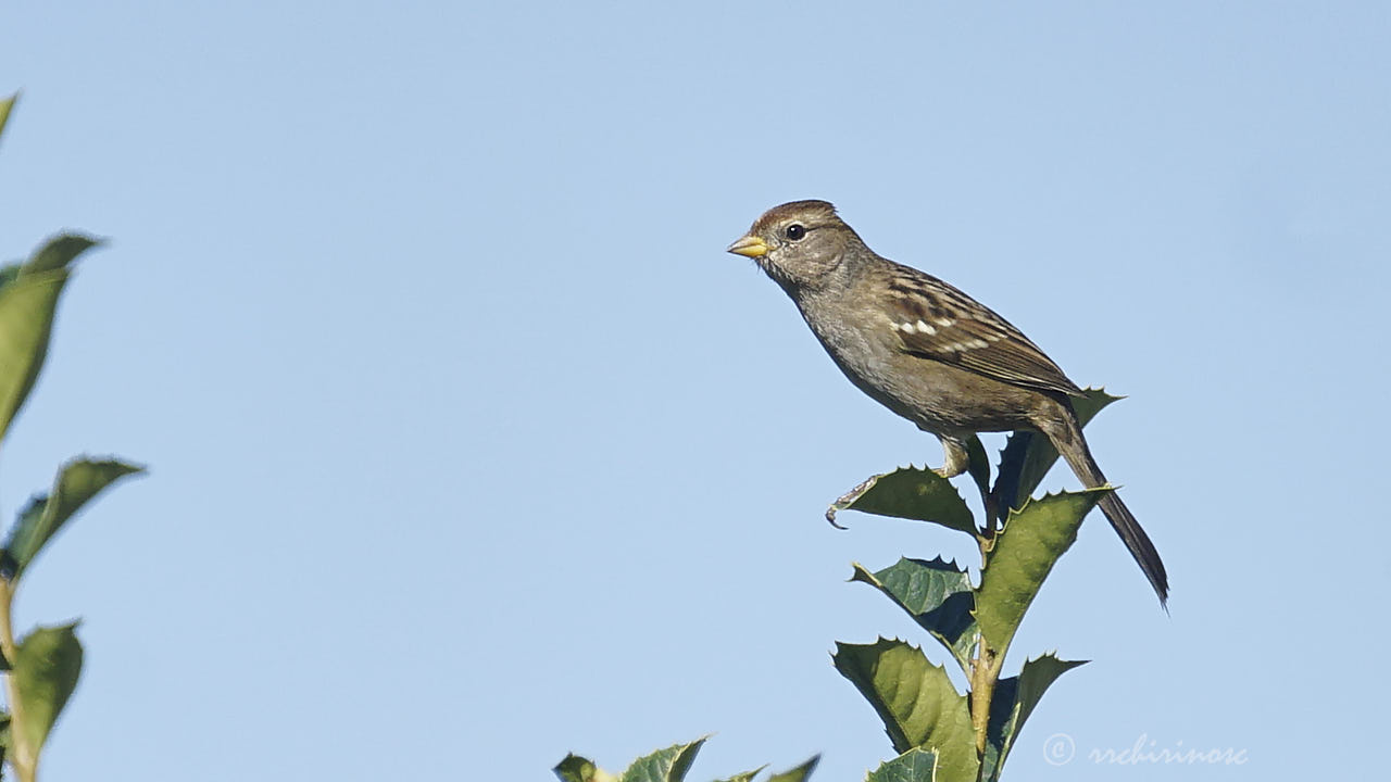
[[[938,779],[972,781],[979,769],[967,699],[922,650],[900,640],[836,643],[836,671],[850,679],[883,719],[893,749],[936,750]]]

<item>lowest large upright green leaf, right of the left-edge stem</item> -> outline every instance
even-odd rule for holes
[[[77,622],[58,628],[38,628],[19,641],[14,653],[15,694],[24,721],[24,746],[39,756],[49,731],[78,686],[82,672],[82,643],[74,632]]]

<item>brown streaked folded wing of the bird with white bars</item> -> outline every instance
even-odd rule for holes
[[[904,352],[1011,385],[1081,395],[1053,359],[1010,321],[942,280],[894,264],[889,291],[885,314]]]

